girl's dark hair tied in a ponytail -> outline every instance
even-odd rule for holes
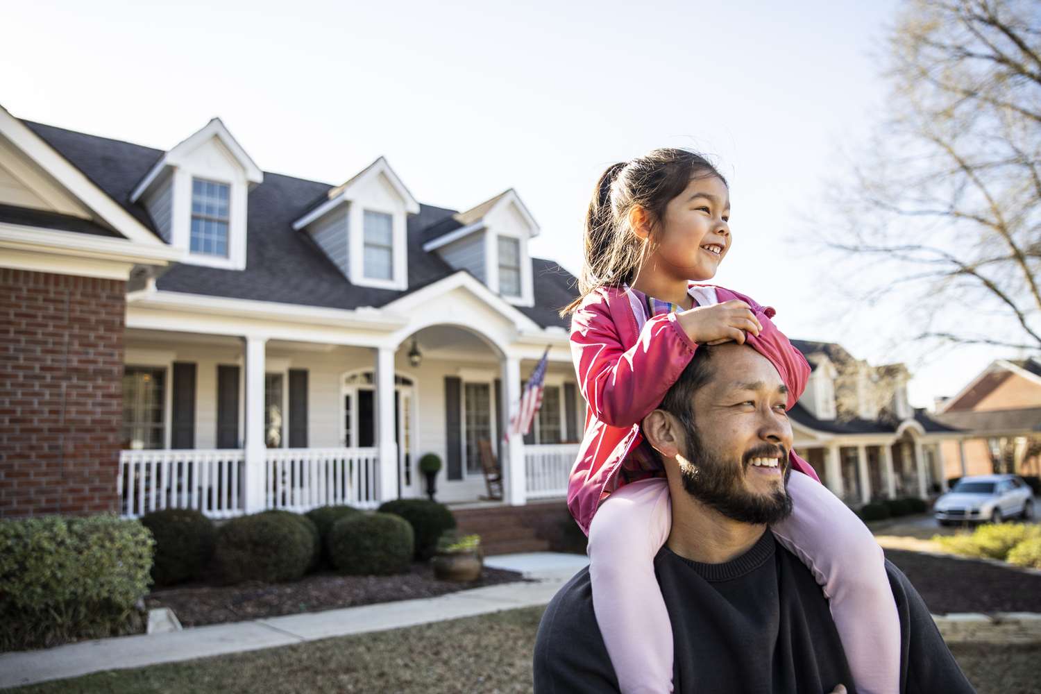
[[[727,184],[722,174],[704,156],[677,148],[654,150],[632,161],[608,166],[596,181],[586,212],[580,295],[560,315],[574,312],[600,287],[619,287],[635,280],[645,248],[629,225],[633,207],[639,205],[645,209],[657,227],[664,217],[665,206],[691,180],[713,176]]]

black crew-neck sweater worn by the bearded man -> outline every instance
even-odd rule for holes
[[[900,616],[904,692],[972,692],[921,597],[887,564]],[[772,533],[725,564],[667,548],[655,558],[674,636],[677,694],[821,692],[852,677],[828,600]],[[538,694],[617,692],[596,627],[587,569],[550,602],[535,642]]]

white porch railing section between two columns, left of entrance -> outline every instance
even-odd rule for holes
[[[264,508],[379,506],[379,448],[268,448]]]

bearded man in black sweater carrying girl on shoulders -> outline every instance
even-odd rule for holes
[[[827,598],[768,532],[791,511],[786,393],[751,346],[702,346],[642,422],[672,498],[655,573],[672,623],[676,692],[855,691]],[[898,569],[887,570],[900,617],[902,691],[973,691],[921,597]],[[587,569],[550,602],[534,674],[538,693],[618,691]]]

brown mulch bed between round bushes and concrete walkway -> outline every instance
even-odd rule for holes
[[[236,586],[178,586],[153,591],[145,598],[145,606],[149,609],[170,608],[182,626],[201,626],[436,597],[524,580],[516,571],[485,567],[481,577],[473,583],[437,581],[430,564],[417,563],[408,573],[389,576],[348,576],[324,572],[305,576],[296,583],[265,584],[254,581]]]

